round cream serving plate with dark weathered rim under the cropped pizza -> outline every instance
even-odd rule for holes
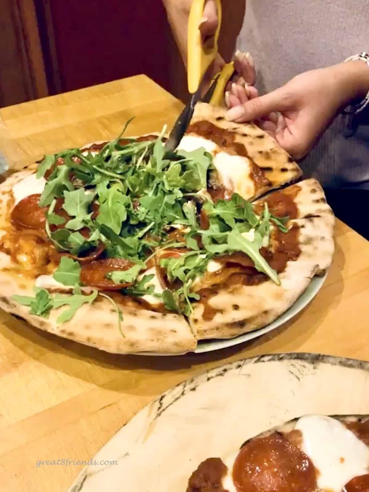
[[[143,408],[69,492],[185,491],[201,461],[304,414],[369,414],[369,363],[275,354],[212,369]]]

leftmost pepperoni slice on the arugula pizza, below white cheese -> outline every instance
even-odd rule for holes
[[[12,222],[27,229],[44,229],[48,207],[40,207],[40,194],[23,198],[11,213]]]

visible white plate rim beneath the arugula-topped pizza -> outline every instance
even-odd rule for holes
[[[314,277],[305,292],[301,294],[298,300],[293,304],[287,311],[285,311],[279,318],[277,318],[273,323],[270,323],[264,328],[259,328],[258,330],[254,330],[253,332],[245,333],[244,335],[240,335],[235,338],[227,338],[227,339],[214,339],[214,340],[204,340],[200,341],[195,348],[195,354],[201,354],[203,352],[212,352],[213,350],[219,350],[221,348],[232,347],[233,345],[238,345],[239,343],[243,343],[247,340],[252,340],[253,338],[261,337],[265,333],[271,332],[278,328],[278,326],[283,325],[291,318],[296,316],[300,311],[304,309],[316,296],[316,294],[321,289],[325,279],[327,278],[328,272],[325,273],[323,277]],[[171,356],[173,354],[159,354],[156,352],[140,352],[136,355],[154,355],[154,356]],[[179,354],[177,354],[179,355]]]

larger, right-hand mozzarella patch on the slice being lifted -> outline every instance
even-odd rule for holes
[[[219,152],[213,163],[226,188],[238,193],[245,200],[254,196],[255,184],[250,179],[252,169],[246,157]]]

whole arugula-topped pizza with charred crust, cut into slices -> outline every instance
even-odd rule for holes
[[[276,319],[329,267],[316,180],[199,103],[165,131],[46,155],[0,184],[0,307],[113,353],[184,353]],[[291,184],[292,183],[292,184]]]

